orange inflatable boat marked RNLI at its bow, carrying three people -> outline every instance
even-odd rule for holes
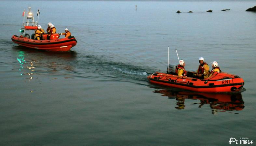
[[[244,80],[237,75],[214,72],[207,79],[180,77],[156,72],[147,77],[151,83],[197,92],[239,92]]]

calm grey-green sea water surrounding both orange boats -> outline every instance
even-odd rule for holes
[[[256,13],[245,12],[255,5],[242,0],[1,1],[0,145],[255,141]],[[30,50],[11,41],[28,6],[34,13],[40,9],[44,29],[51,22],[58,33],[66,27],[72,32],[78,43],[71,52]],[[208,64],[215,60],[222,71],[243,78],[246,91],[205,94],[150,84],[149,73],[166,71],[168,46],[172,64],[178,60],[175,48],[187,70],[196,70],[201,56]]]

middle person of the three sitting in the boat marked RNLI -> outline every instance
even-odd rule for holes
[[[209,66],[208,64],[205,62],[203,57],[200,57],[199,59],[199,67],[197,69],[197,73],[195,74],[198,79],[206,79],[209,76]]]

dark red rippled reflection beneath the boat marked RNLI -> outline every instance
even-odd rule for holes
[[[199,108],[204,104],[209,104],[212,114],[225,111],[241,111],[244,108],[244,101],[241,93],[232,94],[216,94],[216,93],[200,93],[188,91],[171,91],[171,90],[155,90],[155,93],[161,93],[169,99],[176,99],[178,105],[176,109],[185,108],[185,99],[200,100]]]

